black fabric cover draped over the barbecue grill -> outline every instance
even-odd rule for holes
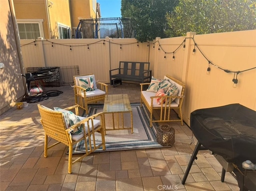
[[[226,161],[256,163],[256,111],[238,103],[198,109],[190,114],[190,128],[204,147]]]

